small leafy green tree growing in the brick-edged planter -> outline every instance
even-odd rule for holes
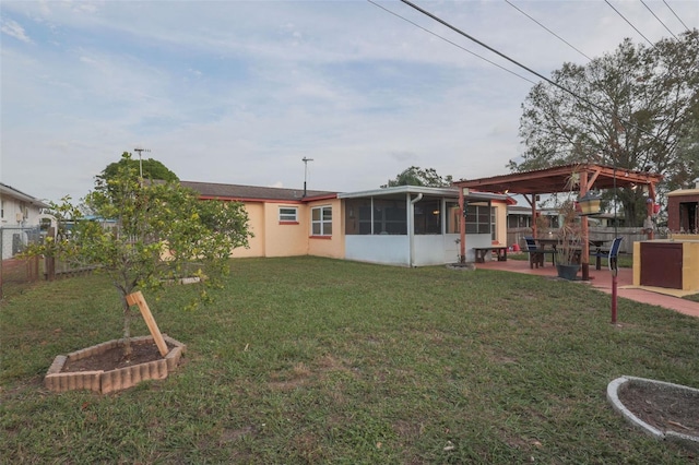
[[[247,247],[248,215],[241,203],[200,201],[178,182],[144,182],[128,162],[109,177],[98,177],[84,206],[98,218],[87,220],[70,198],[54,205],[70,234],[49,238],[29,250],[97,265],[118,289],[123,308],[125,357],[131,355],[131,310],[127,296],[138,287],[155,289],[189,275],[199,277],[199,299],[228,272],[230,251]],[[107,226],[109,225],[109,226]],[[64,228],[59,227],[59,230]]]

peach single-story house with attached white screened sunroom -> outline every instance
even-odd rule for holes
[[[181,181],[202,200],[240,201],[249,249],[232,257],[318,255],[403,266],[453,263],[459,254],[457,188],[400,186],[336,193]],[[466,198],[466,260],[474,247],[507,240],[507,195]]]

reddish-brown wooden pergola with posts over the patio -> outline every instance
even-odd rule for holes
[[[571,182],[571,178],[576,178]],[[532,207],[532,218],[536,217],[536,196],[540,194],[550,194],[557,192],[571,192],[571,186],[579,192],[580,198],[590,190],[602,190],[648,187],[648,215],[653,213],[655,203],[655,184],[662,180],[662,175],[632,171],[613,166],[593,164],[573,164],[557,166],[554,168],[538,169],[534,171],[514,172],[511,175],[494,176],[490,178],[470,179],[455,181],[453,184],[459,188],[459,202],[463,210],[464,194],[470,190],[482,192],[497,192],[521,194]],[[533,223],[533,235],[536,237],[536,224]],[[590,278],[590,231],[588,228],[588,217],[581,216],[582,234],[582,278]],[[652,230],[649,233],[652,239]],[[465,219],[461,225],[461,257],[465,257]]]

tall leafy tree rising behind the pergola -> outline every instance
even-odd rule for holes
[[[652,171],[665,179],[661,193],[699,175],[691,150],[699,124],[699,32],[653,47],[624,40],[613,53],[585,65],[565,63],[552,81],[536,84],[522,104],[525,152],[512,170],[569,163],[600,163]],[[694,134],[694,135],[692,135]],[[619,190],[627,224],[640,225],[640,190]]]

